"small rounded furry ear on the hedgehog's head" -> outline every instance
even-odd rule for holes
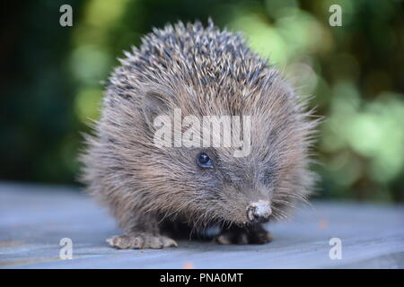
[[[143,98],[143,114],[146,124],[153,129],[154,118],[167,115],[169,104],[162,91],[146,91]]]

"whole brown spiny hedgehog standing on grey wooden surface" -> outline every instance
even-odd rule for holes
[[[311,150],[319,118],[307,98],[242,33],[211,20],[154,29],[124,56],[80,157],[85,190],[109,207],[123,231],[107,239],[110,246],[177,247],[180,234],[191,239],[211,228],[219,244],[271,241],[264,224],[287,219],[315,184]],[[157,146],[156,118],[172,130],[175,109],[180,121],[250,118],[250,125],[233,125],[250,127],[250,136],[241,135],[250,151],[235,156],[240,146],[232,144]],[[212,138],[224,136],[221,127]],[[177,132],[189,129],[200,143],[198,125],[182,122]]]

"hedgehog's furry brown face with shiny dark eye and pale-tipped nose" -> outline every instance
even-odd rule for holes
[[[252,146],[245,158],[221,148],[169,148],[163,156],[159,153],[160,168],[154,174],[171,195],[164,204],[171,206],[167,213],[182,213],[201,224],[285,217],[284,207],[296,197],[293,178],[299,180],[300,168],[280,170],[279,157],[256,156],[261,148]]]

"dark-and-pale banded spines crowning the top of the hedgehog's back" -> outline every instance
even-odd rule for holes
[[[195,91],[206,88],[245,87],[257,80],[267,61],[253,53],[240,33],[218,30],[209,21],[166,25],[142,39],[140,48],[125,53],[119,74],[129,69],[141,82],[181,81]]]

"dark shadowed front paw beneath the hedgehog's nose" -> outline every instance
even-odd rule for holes
[[[216,237],[216,242],[219,244],[265,244],[272,241],[270,232],[262,227],[248,229],[248,228],[233,228],[230,230],[223,230],[221,234]]]

